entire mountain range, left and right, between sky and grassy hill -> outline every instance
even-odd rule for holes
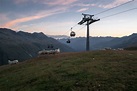
[[[86,38],[71,38],[66,43],[67,36],[48,37],[44,33],[28,33],[0,28],[0,65],[8,63],[8,60],[18,59],[24,61],[38,56],[38,52],[47,49],[48,46],[60,48],[61,52],[80,52],[86,50]],[[63,39],[62,39],[63,38]],[[90,37],[90,50],[102,50],[104,48],[137,49],[137,33],[124,37]]]

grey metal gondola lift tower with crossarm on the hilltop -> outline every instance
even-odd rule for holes
[[[83,14],[82,15],[84,16],[82,18],[82,20],[78,23],[79,25],[82,25],[84,23],[86,23],[87,25],[87,41],[86,41],[86,51],[89,51],[89,25],[96,22],[96,21],[99,21],[100,19],[93,19],[93,16],[94,15],[90,15],[90,14]]]

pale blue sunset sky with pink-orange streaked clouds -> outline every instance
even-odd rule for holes
[[[121,4],[124,5],[117,7]],[[136,9],[106,17],[132,8]],[[98,14],[108,9],[111,10]],[[100,19],[90,25],[90,36],[137,33],[137,0],[0,0],[0,28],[69,36],[72,27],[76,37],[84,37],[86,26],[78,25],[82,13]]]

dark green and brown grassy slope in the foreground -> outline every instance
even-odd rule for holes
[[[1,66],[0,91],[137,91],[137,51],[63,53]]]

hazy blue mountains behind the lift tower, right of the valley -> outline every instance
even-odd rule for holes
[[[86,38],[71,38],[70,43],[66,43],[67,39],[59,39],[61,43],[67,44],[76,51],[86,50]],[[137,33],[133,33],[124,37],[90,37],[90,50],[102,50],[104,48],[128,48],[137,47]]]

